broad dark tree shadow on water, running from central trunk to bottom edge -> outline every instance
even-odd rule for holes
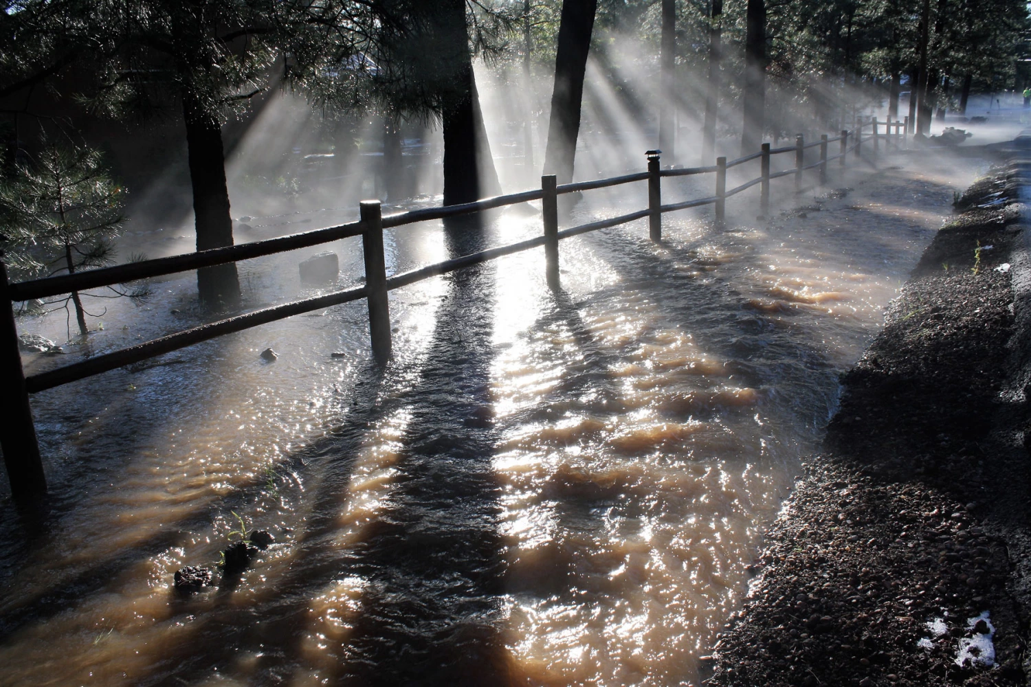
[[[452,254],[485,233],[451,228]],[[493,267],[453,273],[395,486],[346,568],[365,581],[341,684],[493,685],[506,681],[499,627],[504,555],[490,402]]]

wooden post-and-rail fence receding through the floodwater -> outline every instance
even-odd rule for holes
[[[906,117],[908,119],[908,117]],[[880,130],[880,127],[884,130]],[[863,131],[869,127],[869,135]],[[852,141],[850,144],[850,140]],[[838,152],[828,154],[828,146],[838,142]],[[661,169],[658,150],[648,150],[647,171],[617,176],[593,181],[558,184],[554,175],[541,177],[541,187],[525,191],[519,194],[485,198],[472,203],[451,205],[446,207],[409,210],[398,214],[384,216],[380,213],[378,201],[361,203],[361,214],[358,221],[338,227],[329,227],[301,234],[293,234],[275,239],[255,241],[225,248],[213,248],[181,255],[159,257],[139,263],[128,263],[113,267],[100,268],[75,274],[63,274],[53,277],[33,279],[30,281],[11,283],[7,279],[7,269],[0,260],[0,417],[4,418],[4,428],[0,430],[0,448],[3,450],[7,477],[10,481],[11,493],[15,500],[34,499],[46,491],[46,479],[40,459],[39,445],[36,439],[35,426],[32,420],[32,410],[29,394],[68,384],[87,377],[99,375],[115,368],[138,363],[179,348],[192,346],[201,341],[240,332],[252,327],[265,324],[298,315],[312,310],[322,310],[341,303],[350,303],[365,299],[369,311],[369,333],[372,340],[372,353],[377,363],[384,364],[391,355],[390,309],[387,294],[423,279],[454,272],[470,265],[485,263],[502,255],[529,250],[539,246],[544,247],[545,274],[547,283],[552,286],[559,280],[559,241],[599,229],[616,227],[643,217],[648,218],[648,234],[653,241],[662,239],[662,215],[686,208],[712,205],[716,221],[724,221],[727,199],[752,186],[760,186],[759,202],[763,215],[769,214],[770,181],[783,176],[793,176],[795,191],[801,192],[803,174],[807,170],[817,170],[818,183],[827,182],[828,165],[838,161],[844,167],[850,152],[857,160],[864,160],[867,144],[871,145],[866,162],[876,165],[880,146],[896,149],[907,145],[906,124],[903,122],[877,122],[876,117],[869,122],[858,122],[853,131],[842,131],[834,138],[821,136],[819,141],[805,143],[799,135],[794,145],[771,148],[769,143],[763,143],[762,149],[750,156],[727,161],[718,158],[716,165],[710,167],[693,167],[680,169]],[[819,148],[819,160],[805,164],[806,150]],[[779,172],[770,171],[770,160],[773,156],[795,154],[794,166]],[[811,158],[811,156],[810,156]],[[759,160],[759,176],[727,190],[727,170]],[[676,203],[662,204],[662,179],[698,174],[713,174],[713,194],[706,198],[687,200]],[[648,207],[643,210],[629,212],[609,219],[600,219],[578,227],[559,230],[558,197],[563,194],[617,186],[624,183],[647,181]],[[506,246],[480,250],[454,260],[428,265],[426,267],[387,276],[384,260],[385,229],[404,227],[419,221],[444,219],[459,215],[468,215],[485,210],[525,203],[541,201],[543,234],[532,239],[520,241]],[[228,317],[219,321],[195,327],[182,332],[176,332],[145,343],[122,348],[102,355],[65,365],[54,370],[25,376],[22,368],[22,357],[19,351],[18,328],[14,320],[13,303],[34,299],[52,298],[61,294],[121,284],[136,279],[158,277],[203,267],[224,265],[262,255],[271,255],[287,250],[315,246],[330,241],[348,237],[362,237],[362,249],[365,259],[365,284],[344,290],[326,294],[314,298],[286,303],[246,314]]]

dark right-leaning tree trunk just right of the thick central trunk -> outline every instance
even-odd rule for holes
[[[584,74],[597,9],[598,0],[564,0],[562,3],[552,114],[544,149],[544,173],[557,175],[559,183],[569,183],[573,178],[584,100]]]

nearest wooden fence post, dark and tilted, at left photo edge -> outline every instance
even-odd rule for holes
[[[3,448],[11,496],[21,501],[46,493],[46,476],[32,422],[29,392],[25,388],[8,283],[7,266],[0,252],[0,413],[3,417],[0,447]]]

